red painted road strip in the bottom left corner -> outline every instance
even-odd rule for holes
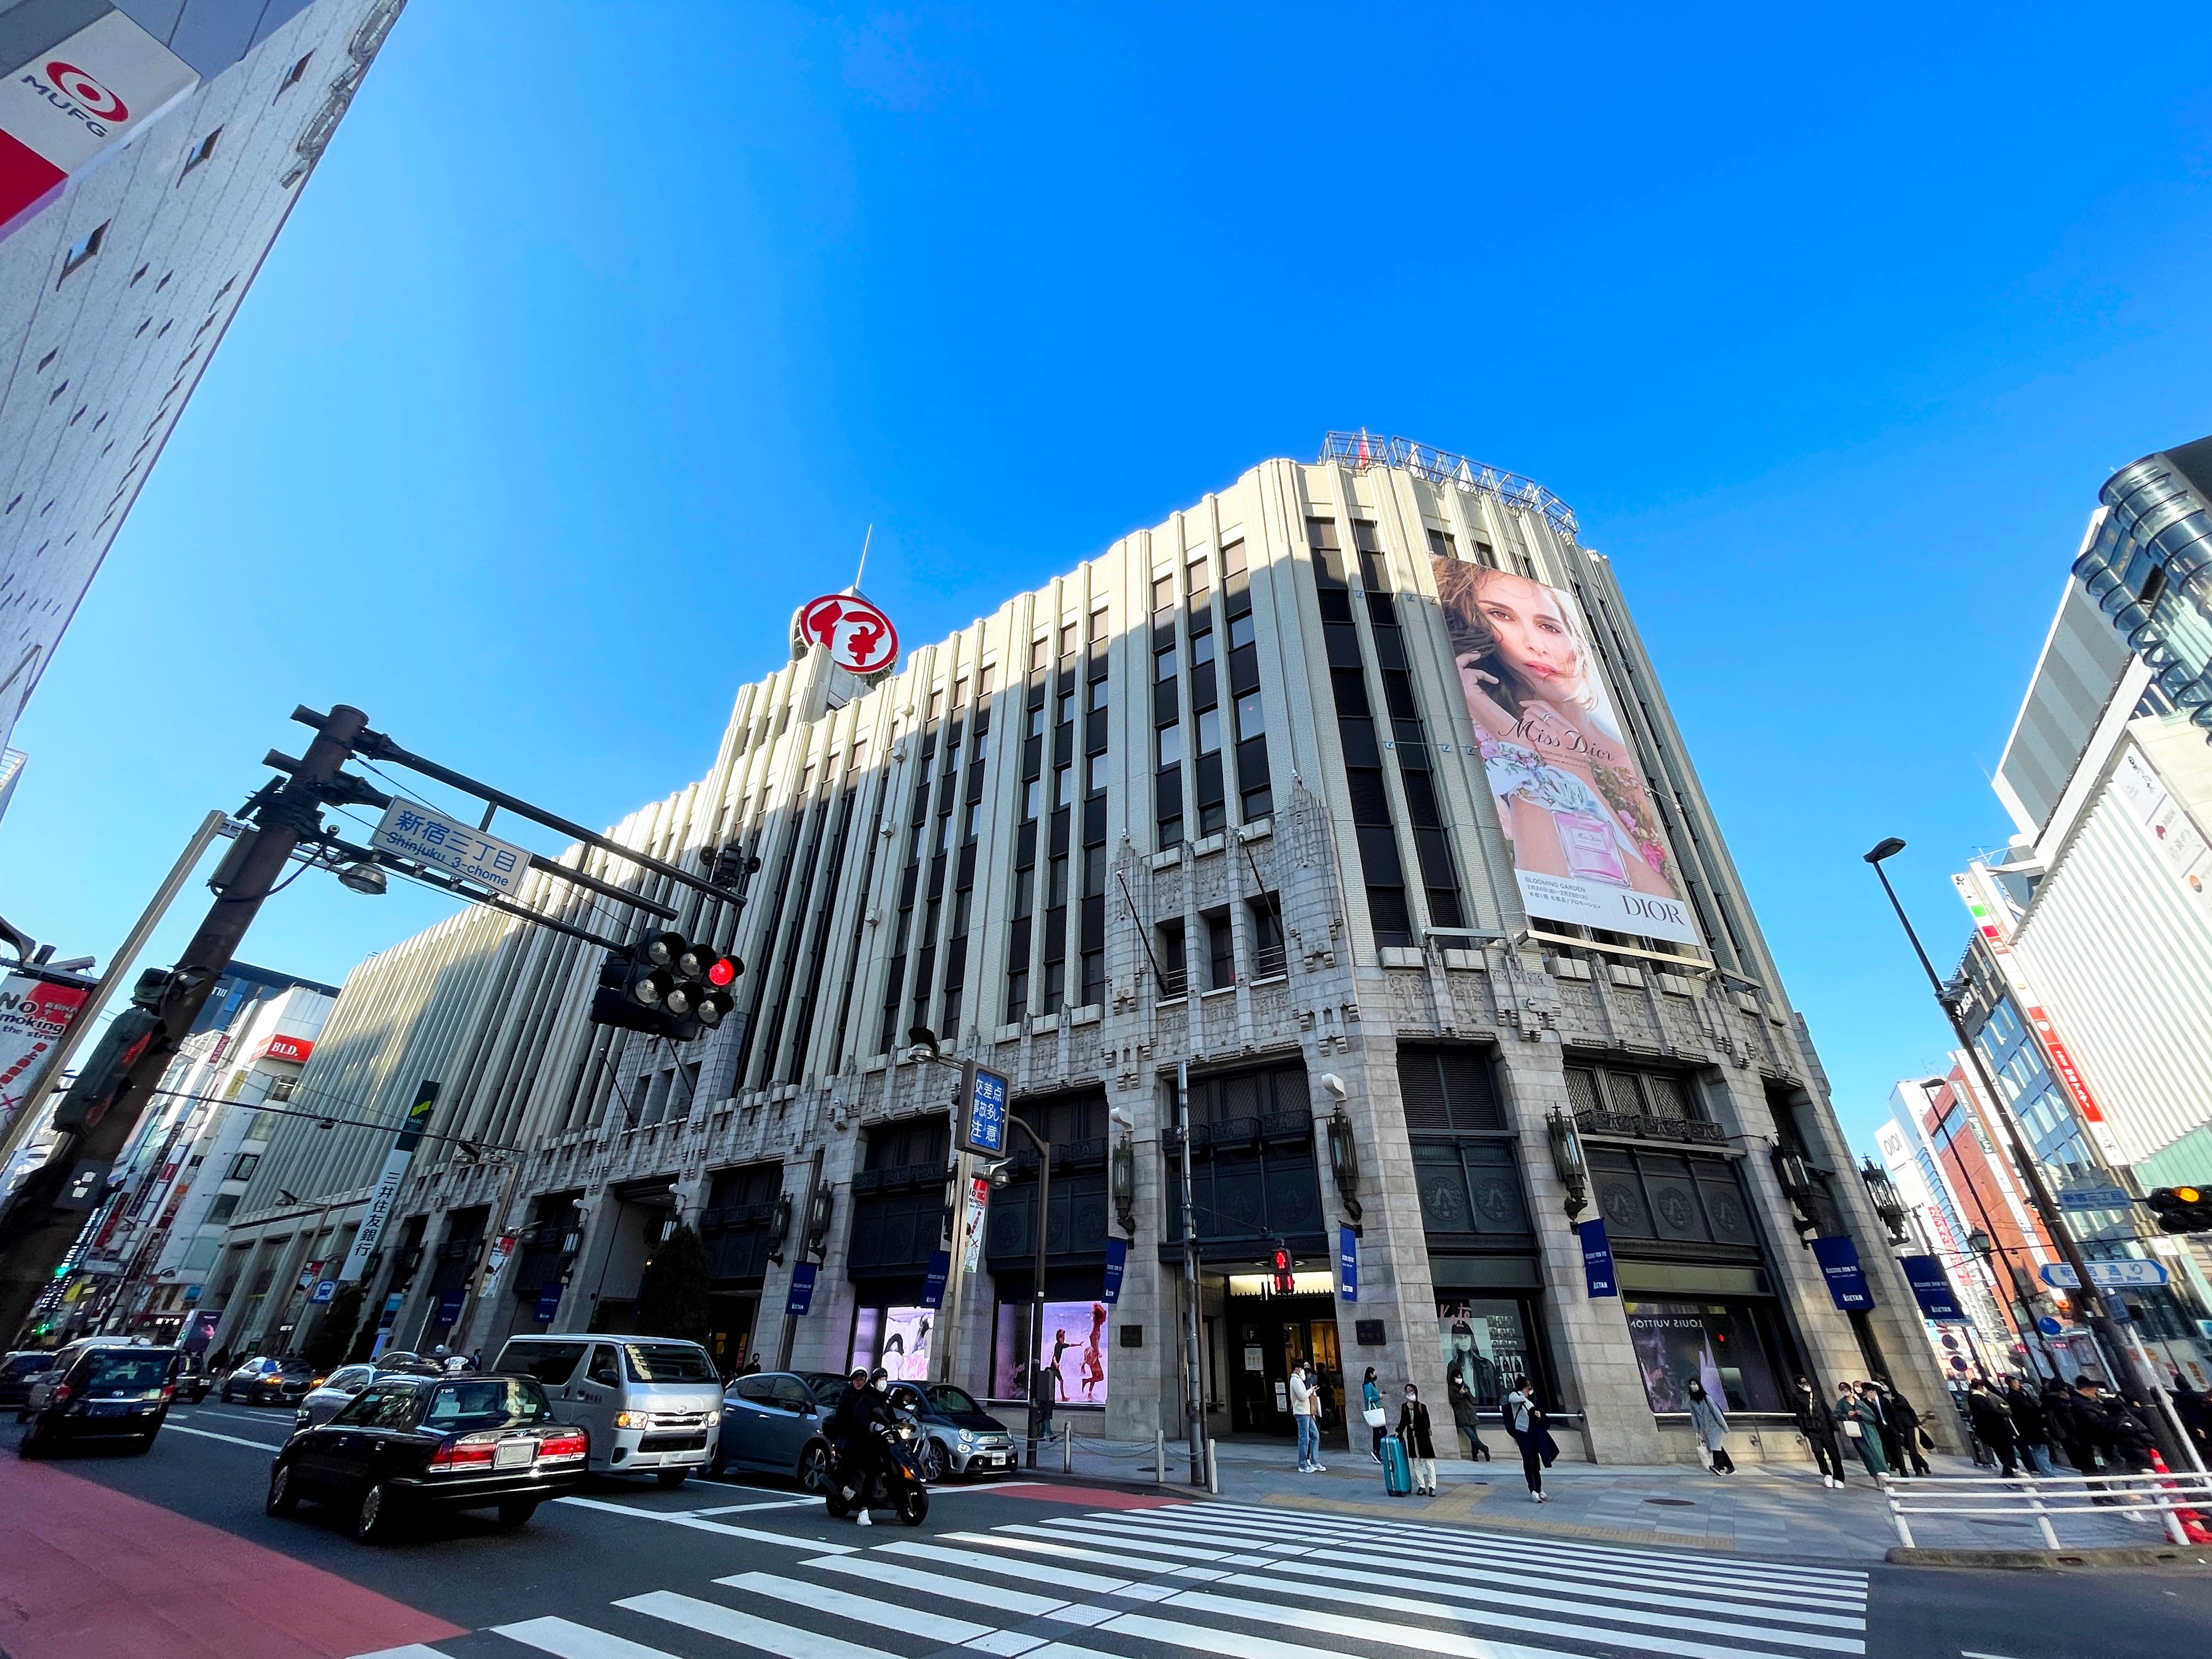
[[[0,1458],[11,1659],[345,1659],[458,1624],[46,1464]]]

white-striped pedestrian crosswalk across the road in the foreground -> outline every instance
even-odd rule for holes
[[[1865,1573],[1208,1502],[810,1553],[358,1659],[1863,1659],[1865,1615]]]

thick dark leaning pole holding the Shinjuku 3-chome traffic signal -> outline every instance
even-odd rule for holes
[[[232,858],[223,860],[230,865],[228,880],[161,987],[150,1040],[108,1099],[84,1102],[84,1121],[64,1128],[53,1157],[24,1179],[15,1201],[0,1214],[0,1340],[13,1343],[40,1294],[53,1283],[53,1270],[84,1228],[84,1212],[60,1208],[55,1199],[80,1170],[88,1175],[97,1168],[100,1179],[106,1179],[104,1166],[115,1161],[137,1128],[139,1113],[161,1086],[170,1055],[237,956],[246,929],[259,916],[292,849],[303,836],[321,834],[319,810],[325,803],[352,801],[356,790],[367,790],[367,783],[341,772],[367,723],[367,714],[341,703],[323,719],[305,759],[299,765],[285,761],[292,776],[265,794],[257,810],[259,827],[232,849]]]

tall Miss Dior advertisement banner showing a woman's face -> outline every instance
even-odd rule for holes
[[[1701,945],[1582,606],[1489,564],[1429,564],[1528,914]]]

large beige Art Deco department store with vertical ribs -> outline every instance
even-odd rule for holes
[[[619,1329],[681,1214],[726,1363],[914,1374],[951,1340],[953,1380],[1015,1396],[1035,1164],[938,1329],[951,1075],[905,1055],[929,1026],[1053,1146],[1044,1347],[1088,1431],[1177,1431],[1179,1066],[1214,1433],[1287,1433],[1292,1358],[1484,1409],[1531,1378],[1599,1460],[1688,1458],[1690,1376],[1750,1427],[1796,1371],[1940,1387],[1613,568],[1524,480],[1396,440],[1270,460],[874,688],[818,650],[745,686],[712,772],[613,834],[761,860],[741,914],[641,887],[737,945],[739,1011],[670,1051],[586,1022],[595,949],[449,925],[467,969],[363,1037],[416,1044],[394,1084],[438,1079],[465,1139],[425,1144],[372,1270],[394,1343]],[[606,922],[571,891],[533,902]],[[1579,1124],[1617,1296],[1588,1294],[1548,1119]],[[294,1141],[241,1221],[279,1181],[352,1197],[385,1150]],[[310,1250],[274,1234],[252,1250]],[[1814,1234],[1856,1237],[1869,1310],[1838,1312]],[[1296,1296],[1259,1294],[1274,1239]]]

